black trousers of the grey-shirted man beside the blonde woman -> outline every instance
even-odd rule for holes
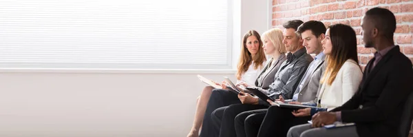
[[[254,109],[265,109],[268,105],[251,105],[251,104],[233,104],[228,107],[220,107],[212,114],[213,125],[220,129],[220,137],[237,136],[235,133],[235,116],[241,112],[246,112]]]

